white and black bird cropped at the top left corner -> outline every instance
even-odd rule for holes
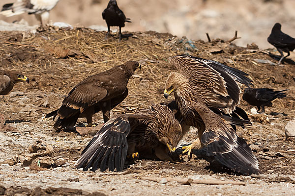
[[[2,6],[1,15],[6,17],[15,16],[27,12],[34,14],[41,25],[47,23],[49,11],[52,10],[59,0],[17,0],[14,3],[7,3]]]

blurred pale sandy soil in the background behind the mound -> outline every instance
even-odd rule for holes
[[[14,0],[1,0],[0,4]],[[102,25],[101,13],[109,0],[60,0],[51,11],[53,22],[71,25]],[[271,48],[266,38],[272,26],[279,22],[283,32],[295,37],[294,0],[118,0],[118,6],[132,23],[123,30],[169,32],[189,39],[230,39],[235,30],[242,39],[236,45],[256,43]],[[24,18],[30,25],[38,25],[33,15],[23,14],[0,20],[13,22]],[[116,28],[114,28],[116,29]]]

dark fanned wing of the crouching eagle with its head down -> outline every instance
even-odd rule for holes
[[[130,124],[126,116],[110,119],[96,133],[87,147],[83,150],[75,168],[84,168],[87,171],[92,167],[95,171],[105,171],[107,166],[110,171],[122,171],[127,155],[127,139],[130,133]]]

